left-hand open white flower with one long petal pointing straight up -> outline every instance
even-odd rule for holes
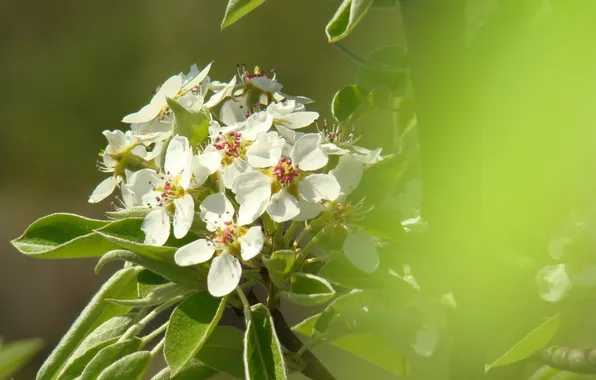
[[[192,188],[193,154],[188,139],[175,136],[170,141],[164,164],[165,173],[157,174],[143,169],[131,176],[123,191],[127,205],[143,205],[154,208],[143,221],[145,244],[163,245],[170,236],[170,224],[174,236],[183,238],[192,225],[194,200],[188,190]],[[170,215],[173,220],[170,223]]]

